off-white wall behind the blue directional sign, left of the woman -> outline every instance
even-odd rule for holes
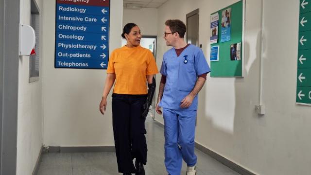
[[[110,53],[121,46],[122,4],[110,1]],[[106,70],[55,69],[55,0],[44,0],[43,10],[43,144],[114,145],[111,107],[99,112]],[[111,106],[110,96],[107,102]]]

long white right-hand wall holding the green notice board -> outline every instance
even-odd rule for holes
[[[209,15],[238,0],[169,0],[158,9],[157,64],[169,48],[163,42],[166,19],[199,8],[199,42],[209,60]],[[264,0],[263,103],[259,117],[261,1],[246,0],[245,77],[207,78],[199,94],[196,141],[259,175],[311,172],[310,106],[295,105],[297,0]],[[178,8],[176,8],[178,4]],[[159,76],[157,82],[159,82]],[[162,116],[156,120],[163,123]]]

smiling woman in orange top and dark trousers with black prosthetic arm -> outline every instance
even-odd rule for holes
[[[141,34],[136,24],[126,24],[122,37],[126,39],[126,45],[114,50],[109,57],[100,111],[104,114],[107,95],[115,82],[112,124],[118,169],[123,175],[145,175],[143,164],[147,162],[147,144],[142,113],[149,94],[146,82],[149,87],[155,85],[153,77],[158,70],[153,54],[139,45]]]

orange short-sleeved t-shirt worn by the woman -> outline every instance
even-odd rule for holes
[[[113,93],[147,94],[146,75],[158,73],[153,54],[141,46],[123,46],[114,50],[108,62],[107,73],[115,73]]]

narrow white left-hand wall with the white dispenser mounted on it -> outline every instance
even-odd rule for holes
[[[42,0],[36,2],[42,12]],[[30,7],[30,0],[20,0],[20,23],[30,25]],[[39,81],[29,83],[29,56],[19,57],[17,175],[33,173],[42,146],[42,59]]]

